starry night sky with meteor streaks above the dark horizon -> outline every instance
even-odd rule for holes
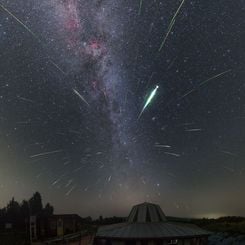
[[[1,0],[0,207],[245,215],[244,43],[244,0]]]

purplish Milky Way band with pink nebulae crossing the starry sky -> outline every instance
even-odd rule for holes
[[[54,32],[62,38],[62,50],[65,52],[64,58],[59,58],[58,62],[65,64],[68,79],[79,77],[75,87],[92,105],[90,113],[95,116],[102,113],[103,120],[107,120],[106,129],[98,127],[96,137],[103,141],[110,134],[108,180],[118,172],[115,178],[120,180],[121,171],[124,174],[130,171],[128,166],[139,168],[135,166],[137,163],[133,166],[133,162],[139,159],[131,154],[132,136],[127,132],[131,112],[126,111],[125,100],[129,84],[127,78],[121,75],[121,57],[117,55],[124,24],[119,22],[113,11],[122,8],[122,4],[75,0],[52,1],[49,4],[54,9],[52,14],[55,13],[50,18],[57,23]],[[72,61],[67,55],[72,57]]]

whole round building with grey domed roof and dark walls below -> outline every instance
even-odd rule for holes
[[[126,223],[102,226],[96,245],[205,245],[209,232],[196,225],[167,221],[159,205],[142,203],[132,208]]]

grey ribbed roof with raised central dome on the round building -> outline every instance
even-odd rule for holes
[[[207,236],[196,225],[168,222],[159,205],[142,203],[132,208],[127,223],[102,226],[97,238],[154,239]]]

